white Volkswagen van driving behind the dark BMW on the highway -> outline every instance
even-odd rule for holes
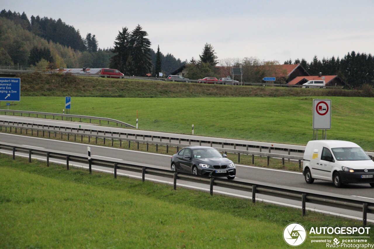
[[[345,183],[369,183],[374,187],[374,162],[357,144],[340,140],[309,141],[304,151],[303,175],[312,184],[315,179]]]

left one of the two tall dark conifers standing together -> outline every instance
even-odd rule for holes
[[[131,55],[130,33],[127,27],[122,28],[122,32],[119,31],[111,52],[114,55],[110,59],[110,68],[118,69],[125,75],[131,75],[127,65]]]

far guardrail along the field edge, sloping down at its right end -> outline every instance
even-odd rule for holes
[[[72,114],[59,114],[59,113],[43,113],[43,112],[39,112],[39,111],[5,110],[5,109],[0,109],[0,113],[1,112],[4,112],[5,115],[6,115],[6,113],[13,113],[13,116],[15,116],[15,113],[21,113],[21,117],[22,117],[23,113],[28,114],[29,117],[30,117],[30,114],[35,114],[36,117],[38,117],[38,115],[42,115],[42,116],[44,115],[45,119],[47,118],[47,116],[53,116],[53,119],[55,119],[55,116],[61,117],[61,120],[63,120],[63,117],[68,117],[68,118],[70,118],[71,121],[73,121],[73,118],[79,118],[79,120],[80,120],[79,122],[82,122],[82,119],[89,119],[90,123],[91,123],[91,120],[94,119],[94,120],[99,120],[100,124],[101,124],[101,120],[102,120],[102,121],[108,121],[108,124],[109,124],[109,122],[113,122],[113,123],[116,123],[117,126],[118,126],[118,124],[120,124],[121,126],[136,128],[136,126],[133,126],[131,124],[128,124],[128,123],[125,123],[125,122],[122,122],[122,121],[119,121],[119,120],[116,120],[116,119],[109,119],[109,118],[104,118],[104,117],[72,115]]]

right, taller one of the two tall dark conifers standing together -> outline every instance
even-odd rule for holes
[[[148,38],[145,38],[146,36],[148,36],[148,33],[143,31],[139,24],[132,31],[130,36],[132,61],[130,71],[131,74],[136,76],[146,76],[146,74],[151,73],[152,70],[152,62],[150,59],[151,42]]]

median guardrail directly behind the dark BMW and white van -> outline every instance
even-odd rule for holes
[[[48,137],[50,138],[51,132],[54,133],[55,137],[57,137],[57,133],[61,134],[61,139],[63,138],[63,135],[67,135],[67,139],[70,139],[70,135],[74,135],[74,141],[76,141],[77,136],[80,136],[80,141],[83,142],[83,137],[86,136],[88,137],[88,142],[91,142],[91,138],[95,138],[95,144],[98,142],[98,138],[103,139],[104,145],[105,145],[105,139],[110,139],[111,140],[111,146],[114,145],[114,140],[117,140],[120,142],[120,147],[122,147],[122,141],[127,141],[128,142],[128,148],[130,148],[130,142],[136,142],[137,143],[137,148],[139,149],[139,144],[146,144],[147,146],[147,151],[149,144],[156,145],[156,152],[158,152],[158,145],[164,145],[166,146],[166,153],[169,153],[169,147],[175,147],[177,148],[176,153],[179,151],[180,148],[188,147],[188,146],[193,146],[189,144],[180,144],[180,143],[172,143],[172,142],[162,142],[162,141],[153,141],[153,140],[147,140],[147,139],[137,139],[137,138],[129,138],[128,136],[130,135],[129,133],[119,133],[119,136],[113,136],[113,132],[110,132],[111,135],[105,135],[104,134],[99,134],[98,130],[90,130],[89,133],[84,133],[84,132],[79,132],[79,130],[82,129],[76,129],[77,132],[73,131],[68,131],[66,127],[61,127],[61,126],[53,126],[53,129],[45,129],[43,128],[35,128],[35,127],[28,127],[28,126],[16,126],[16,125],[11,125],[11,124],[1,124],[0,123],[0,132],[3,132],[3,129],[5,128],[5,132],[7,132],[7,128],[9,127],[9,131],[12,132],[12,128],[15,129],[15,132],[17,133],[17,129],[20,129],[22,133],[22,129],[26,130],[26,134],[28,133],[28,130],[31,130],[31,135],[34,135],[34,130],[36,131],[36,135],[39,136],[39,132],[42,132],[43,137],[45,136],[45,132],[48,132]],[[57,130],[58,128],[58,130]],[[63,130],[61,130],[61,128]],[[64,130],[65,129],[65,130]],[[84,131],[84,130],[82,130]],[[93,133],[92,133],[93,132]],[[95,134],[96,132],[96,134]],[[53,134],[52,134],[53,135]],[[121,136],[123,135],[123,136]],[[126,137],[125,137],[126,136]],[[211,147],[212,144],[211,144]],[[229,149],[229,148],[216,148],[218,151],[223,152],[225,154],[229,153],[235,153],[237,154],[237,161],[240,163],[240,154],[244,155],[250,155],[252,156],[252,164],[254,164],[254,159],[255,156],[260,156],[260,157],[266,157],[267,158],[267,166],[270,165],[270,158],[276,158],[276,159],[282,159],[282,165],[284,166],[285,159],[297,161],[299,168],[301,168],[301,160],[303,160],[302,156],[293,156],[293,155],[286,155],[286,154],[276,154],[276,153],[270,153],[270,152],[258,152],[258,151],[249,151],[249,150],[236,150],[236,149]]]

